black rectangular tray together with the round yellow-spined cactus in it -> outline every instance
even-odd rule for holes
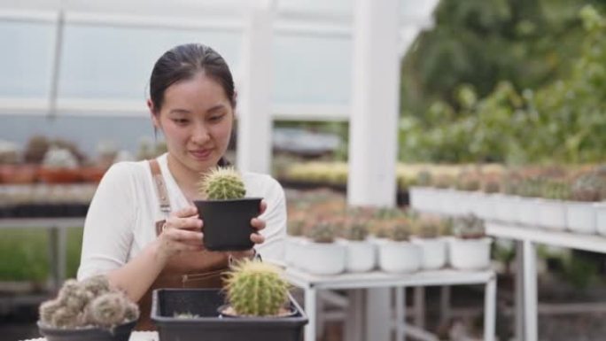
[[[298,341],[307,316],[289,294],[282,270],[237,262],[220,289],[153,291],[151,321],[161,340]]]

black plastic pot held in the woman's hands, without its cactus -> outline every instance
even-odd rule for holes
[[[194,205],[204,220],[204,246],[210,251],[242,251],[253,248],[251,219],[259,215],[261,198],[197,200]]]

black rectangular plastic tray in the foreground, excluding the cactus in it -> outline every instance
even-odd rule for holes
[[[159,289],[153,291],[151,321],[162,341],[299,341],[307,316],[293,298],[289,299],[291,309],[297,312],[291,317],[224,318],[217,312],[225,303],[220,289]]]

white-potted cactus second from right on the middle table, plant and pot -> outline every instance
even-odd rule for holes
[[[447,241],[443,237],[444,221],[438,217],[423,216],[413,222],[413,235],[410,241],[422,249],[421,267],[437,269],[447,262]]]

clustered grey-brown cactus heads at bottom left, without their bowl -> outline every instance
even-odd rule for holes
[[[67,280],[57,298],[40,306],[40,322],[62,329],[87,326],[112,329],[138,318],[138,306],[123,292],[111,288],[104,275],[82,282]]]

